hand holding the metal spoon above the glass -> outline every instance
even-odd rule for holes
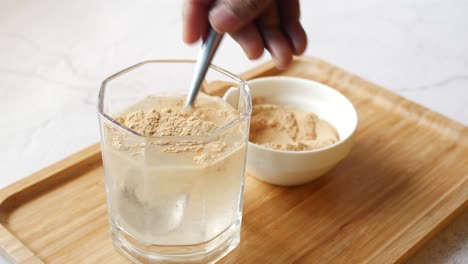
[[[185,0],[183,14],[186,43],[205,38],[210,23],[230,34],[249,59],[267,49],[278,68],[289,66],[307,46],[299,0]]]

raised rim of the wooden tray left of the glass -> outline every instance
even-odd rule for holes
[[[38,185],[42,181],[53,177],[54,175],[60,175],[63,171],[73,168],[76,164],[84,163],[91,159],[95,161],[97,155],[100,156],[101,148],[99,144],[91,145],[59,162],[56,162],[32,175],[23,178],[17,182],[0,190],[0,211],[3,209],[5,202],[19,192],[27,191]],[[94,159],[92,159],[94,157]]]

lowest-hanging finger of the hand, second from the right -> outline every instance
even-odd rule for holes
[[[273,2],[258,20],[265,46],[278,68],[287,68],[292,61],[292,49],[281,30],[278,6]]]

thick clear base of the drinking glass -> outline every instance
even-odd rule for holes
[[[158,246],[138,242],[128,233],[111,224],[114,247],[135,263],[215,263],[240,242],[241,220],[212,240],[187,246]]]

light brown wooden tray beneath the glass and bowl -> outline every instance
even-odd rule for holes
[[[350,155],[316,182],[246,178],[242,239],[221,263],[401,262],[468,200],[468,128],[314,58],[287,75],[345,94],[359,126]],[[0,253],[22,263],[128,263],[111,245],[98,145],[0,192]]]

